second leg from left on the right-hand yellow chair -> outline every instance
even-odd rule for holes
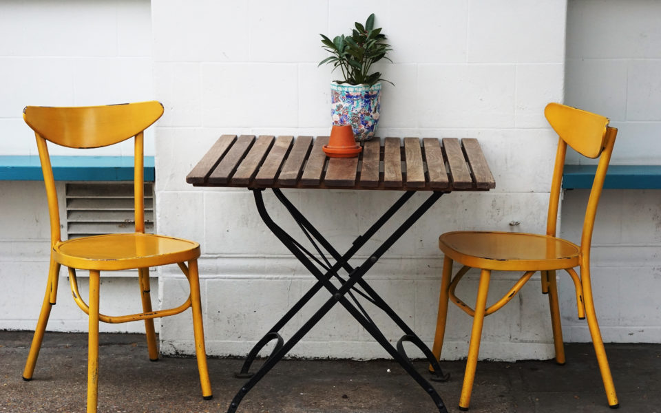
[[[470,345],[468,346],[468,361],[466,361],[466,372],[463,376],[461,396],[459,397],[459,410],[466,411],[470,405],[470,394],[473,390],[475,380],[475,368],[477,367],[477,356],[480,351],[480,340],[482,337],[482,325],[484,313],[487,308],[487,295],[489,293],[490,270],[482,270],[480,284],[477,289],[475,302],[475,315],[473,316],[473,328],[470,332]]]

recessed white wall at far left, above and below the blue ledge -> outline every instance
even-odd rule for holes
[[[153,99],[149,1],[1,1],[0,91],[0,156],[36,156],[34,132],[22,117],[26,105]],[[153,133],[145,135],[145,151],[153,155]],[[82,152],[50,145],[50,153],[132,156],[133,142]],[[63,182],[58,191],[63,195]],[[45,190],[43,182],[0,181],[0,194],[0,329],[32,330],[48,275]],[[83,297],[86,285],[87,280],[81,279]],[[101,288],[102,312],[140,310],[135,277],[115,275],[104,279]],[[156,297],[154,303],[158,305]],[[87,316],[71,299],[65,268],[60,271],[59,297],[48,330],[87,330]],[[101,330],[142,332],[144,324],[102,323]]]

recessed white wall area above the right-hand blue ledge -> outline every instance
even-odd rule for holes
[[[619,129],[613,165],[659,165],[661,3],[571,0],[567,16],[567,103]]]

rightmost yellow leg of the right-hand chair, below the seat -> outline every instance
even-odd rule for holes
[[[594,300],[592,299],[592,287],[590,282],[590,270],[588,266],[581,266],[580,281],[583,286],[583,299],[585,300],[585,316],[587,319],[587,326],[590,329],[592,344],[594,345],[594,352],[597,355],[597,363],[599,364],[601,378],[604,381],[606,398],[608,400],[608,405],[613,409],[616,409],[620,407],[620,403],[618,402],[618,396],[615,392],[615,384],[613,383],[611,368],[608,366],[606,349],[604,348],[604,341],[601,338],[601,332],[597,322],[597,315],[594,310]]]

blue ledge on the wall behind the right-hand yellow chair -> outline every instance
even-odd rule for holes
[[[565,165],[563,188],[591,188],[596,165]],[[605,189],[661,189],[661,165],[611,165]]]

